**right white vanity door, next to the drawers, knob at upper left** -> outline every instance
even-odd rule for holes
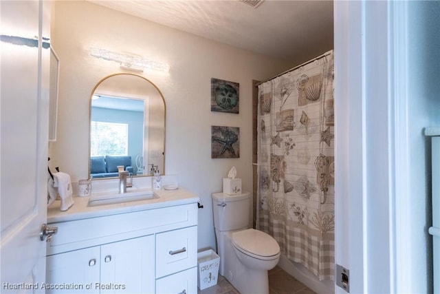
[[[100,293],[154,293],[154,235],[101,246]]]

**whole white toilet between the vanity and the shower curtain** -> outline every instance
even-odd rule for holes
[[[220,275],[241,294],[269,293],[267,271],[280,260],[272,236],[248,229],[250,193],[212,193],[212,211],[220,256]]]

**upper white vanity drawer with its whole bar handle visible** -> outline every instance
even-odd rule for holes
[[[197,266],[197,227],[156,235],[156,277]]]

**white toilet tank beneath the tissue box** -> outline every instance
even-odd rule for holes
[[[212,193],[214,227],[219,231],[232,231],[248,227],[250,193],[238,195]]]

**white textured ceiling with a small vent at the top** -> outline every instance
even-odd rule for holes
[[[90,0],[120,12],[302,63],[333,49],[333,1]]]

